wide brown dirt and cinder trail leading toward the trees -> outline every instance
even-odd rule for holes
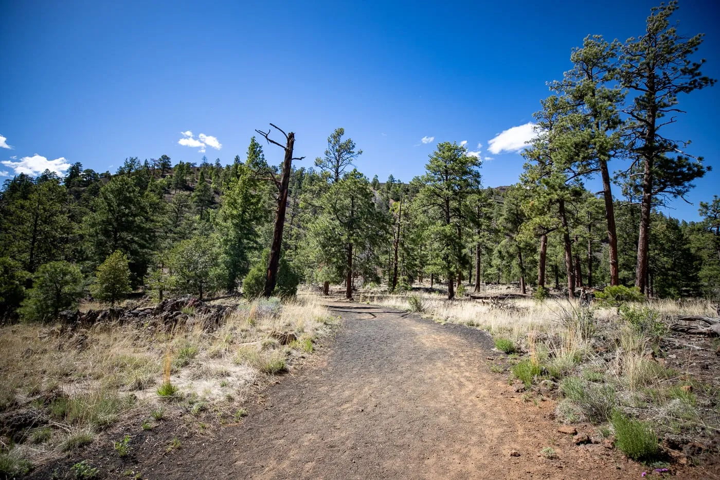
[[[240,425],[145,469],[179,479],[626,479],[615,450],[572,443],[491,373],[480,330],[331,303],[330,352],[271,386]],[[539,456],[552,447],[559,459]],[[516,450],[520,456],[510,456]],[[169,459],[168,459],[169,460]],[[177,462],[175,461],[177,460]]]

